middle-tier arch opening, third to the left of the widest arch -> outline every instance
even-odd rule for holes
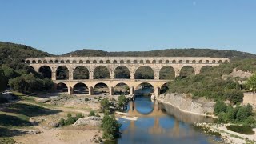
[[[89,70],[86,66],[77,66],[73,71],[73,79],[89,79]]]

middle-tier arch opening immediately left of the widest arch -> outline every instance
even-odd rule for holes
[[[130,78],[130,70],[126,66],[118,66],[114,69],[114,78]]]

